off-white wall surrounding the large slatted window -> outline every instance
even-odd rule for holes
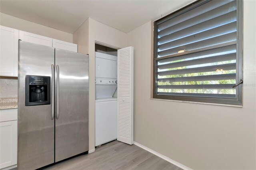
[[[134,46],[134,141],[192,169],[256,169],[256,1],[244,1],[242,108],[150,99],[152,22]]]

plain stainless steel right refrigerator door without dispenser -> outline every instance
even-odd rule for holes
[[[55,49],[55,162],[86,152],[88,55]]]

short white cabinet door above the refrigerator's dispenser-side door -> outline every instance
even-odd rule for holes
[[[39,36],[30,32],[19,31],[19,39],[24,42],[36,43],[52,47],[52,38]]]

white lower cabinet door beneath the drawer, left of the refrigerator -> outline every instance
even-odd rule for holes
[[[17,164],[17,121],[0,123],[0,167]]]

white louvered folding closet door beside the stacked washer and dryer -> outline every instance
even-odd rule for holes
[[[118,49],[117,140],[133,144],[133,47]]]

